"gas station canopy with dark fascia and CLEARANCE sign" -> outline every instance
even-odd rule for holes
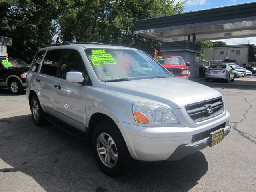
[[[137,20],[133,34],[166,41],[256,36],[256,3]]]

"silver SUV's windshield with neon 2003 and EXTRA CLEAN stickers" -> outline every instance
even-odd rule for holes
[[[85,52],[103,82],[172,76],[140,50],[89,48]]]

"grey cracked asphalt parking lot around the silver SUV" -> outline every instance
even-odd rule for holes
[[[223,94],[230,134],[180,161],[136,161],[118,178],[100,170],[85,141],[36,126],[25,94],[0,90],[0,191],[255,191],[256,76],[198,82]]]

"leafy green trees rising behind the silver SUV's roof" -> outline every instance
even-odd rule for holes
[[[180,0],[1,0],[0,36],[12,38],[12,57],[30,62],[52,42],[92,41],[131,46],[154,55],[160,42],[132,34],[134,22],[179,14]]]

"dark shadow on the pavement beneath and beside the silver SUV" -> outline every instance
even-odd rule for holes
[[[31,115],[0,119],[0,146],[0,158],[13,167],[1,174],[20,171],[46,191],[188,191],[208,170],[204,154],[196,152],[176,162],[136,161],[129,172],[111,178],[86,142],[52,125],[38,127]]]

